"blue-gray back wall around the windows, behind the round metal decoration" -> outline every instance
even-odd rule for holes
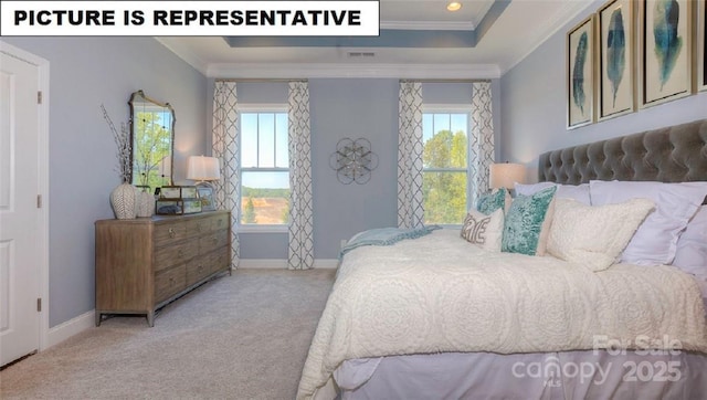
[[[366,229],[398,223],[398,80],[309,80],[315,259],[336,259],[341,240]],[[210,96],[213,92],[209,85]],[[496,103],[499,84],[492,84]],[[425,83],[428,104],[468,104],[468,83]],[[287,102],[286,83],[239,83],[240,104]],[[209,97],[211,98],[211,97]],[[209,99],[211,102],[211,99]],[[211,106],[210,106],[211,107]],[[211,108],[210,108],[211,109]],[[499,118],[495,122],[500,125]],[[342,185],[329,156],[342,138],[367,138],[379,166],[366,185]],[[242,232],[242,259],[287,257],[286,233]]]

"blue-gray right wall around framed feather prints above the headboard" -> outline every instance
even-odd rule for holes
[[[589,126],[566,128],[566,33],[603,3],[591,3],[500,78],[500,156],[526,164],[531,181],[537,180],[538,155],[547,150],[707,117],[707,92],[701,92]]]

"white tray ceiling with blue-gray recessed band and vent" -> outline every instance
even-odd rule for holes
[[[209,77],[499,77],[588,0],[381,0],[374,38],[160,36]]]

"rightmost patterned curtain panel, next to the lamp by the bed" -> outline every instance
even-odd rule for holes
[[[494,164],[494,113],[490,82],[472,84],[471,204],[488,191],[488,169]]]

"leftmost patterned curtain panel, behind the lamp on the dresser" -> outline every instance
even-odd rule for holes
[[[221,164],[221,180],[217,181],[218,210],[231,211],[232,267],[241,260],[238,222],[241,217],[241,124],[236,112],[235,82],[215,83],[213,91],[213,157]]]

